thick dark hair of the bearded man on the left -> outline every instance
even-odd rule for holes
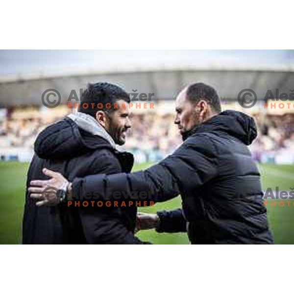
[[[126,93],[123,88],[117,85],[106,82],[88,84],[87,89],[84,90],[81,95],[80,107],[78,111],[89,114],[93,117],[96,116],[96,113],[99,110],[111,113],[115,109],[114,103],[118,102],[121,99],[123,99],[127,103],[130,102],[129,94]],[[83,103],[87,103],[88,107],[83,107]],[[95,107],[92,107],[91,103],[95,103]],[[98,103],[102,104],[101,108],[97,107]],[[107,103],[111,104],[110,108],[106,107]]]

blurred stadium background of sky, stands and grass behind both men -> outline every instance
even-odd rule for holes
[[[181,140],[173,125],[174,98],[185,85],[203,81],[221,96],[223,110],[252,115],[259,135],[250,147],[262,174],[263,189],[294,187],[294,101],[289,108],[264,108],[267,90],[290,94],[294,89],[293,50],[1,50],[0,51],[0,244],[21,243],[26,171],[38,133],[72,110],[71,90],[89,82],[108,81],[129,93],[154,93],[154,109],[133,107],[132,129],[125,148],[135,155],[134,170],[171,153]],[[61,104],[49,109],[42,93],[56,89]],[[252,89],[257,103],[242,108],[237,97]],[[139,101],[138,101],[139,102]],[[136,102],[134,102],[136,103]],[[282,206],[269,201],[268,212],[277,244],[294,244],[293,200]],[[180,206],[180,198],[140,209],[155,212]],[[185,234],[139,232],[155,244],[188,244]]]

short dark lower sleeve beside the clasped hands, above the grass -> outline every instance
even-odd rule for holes
[[[182,209],[172,211],[158,211],[159,224],[156,228],[158,233],[187,232],[187,222]]]

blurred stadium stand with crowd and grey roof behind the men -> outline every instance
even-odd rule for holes
[[[259,136],[252,144],[252,156],[262,163],[294,163],[294,104],[290,109],[263,107],[265,94],[290,93],[293,65],[270,66],[168,66],[122,68],[63,75],[20,74],[0,76],[0,158],[29,161],[37,134],[71,110],[66,107],[72,90],[76,93],[89,82],[108,81],[132,93],[153,93],[155,109],[132,109],[132,128],[125,148],[136,162],[158,161],[181,143],[173,125],[173,99],[185,85],[203,81],[220,93],[223,109],[244,111],[254,116]],[[242,89],[253,89],[257,103],[242,108],[237,97]],[[57,89],[61,104],[53,109],[42,104],[46,89]],[[276,98],[276,97],[275,97]],[[285,101],[286,103],[287,101]],[[293,103],[293,101],[292,101]]]

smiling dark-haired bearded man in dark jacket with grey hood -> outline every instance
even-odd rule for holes
[[[62,172],[71,181],[97,173],[130,172],[132,154],[120,152],[116,146],[125,143],[126,130],[131,127],[129,102],[129,95],[116,85],[89,84],[82,93],[79,111],[49,125],[38,136],[27,186],[34,178],[48,178],[43,168]],[[27,193],[24,244],[141,244],[133,234],[137,212],[134,206],[35,204]]]

